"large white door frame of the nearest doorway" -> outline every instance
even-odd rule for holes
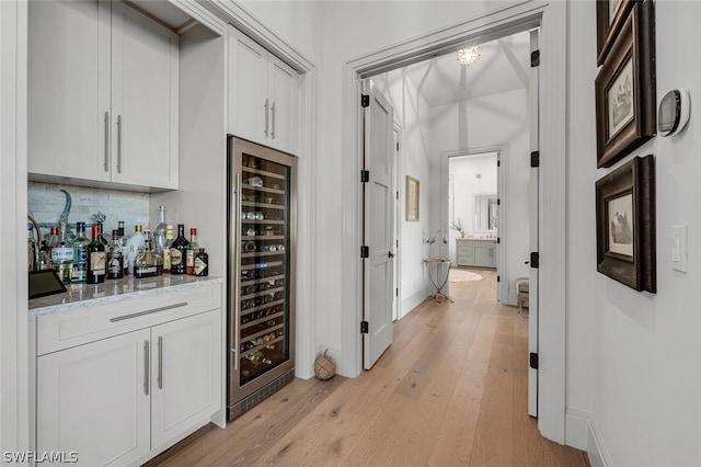
[[[361,264],[360,231],[360,106],[358,79],[422,61],[455,50],[467,41],[497,37],[540,27],[540,155],[539,203],[540,283],[548,291],[539,299],[539,418],[541,434],[565,442],[566,384],[566,91],[567,4],[526,1],[417,38],[379,48],[352,59],[343,70],[342,173],[342,368],[346,376],[360,374]],[[544,90],[548,90],[545,93]],[[544,96],[548,95],[545,100]],[[543,132],[542,128],[548,128]]]

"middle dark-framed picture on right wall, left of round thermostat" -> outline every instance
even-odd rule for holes
[[[654,3],[634,2],[596,77],[599,168],[611,167],[655,136],[654,23]]]

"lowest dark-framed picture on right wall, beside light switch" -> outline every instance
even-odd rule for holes
[[[597,271],[657,292],[655,159],[636,157],[596,182]]]

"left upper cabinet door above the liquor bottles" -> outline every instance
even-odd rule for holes
[[[110,3],[28,2],[28,172],[110,180]]]

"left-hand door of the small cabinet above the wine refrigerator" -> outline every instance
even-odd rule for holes
[[[229,27],[229,133],[267,145],[267,52]]]

